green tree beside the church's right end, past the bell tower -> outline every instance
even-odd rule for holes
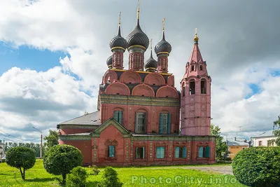
[[[211,124],[210,134],[216,137],[216,158],[221,160],[223,159],[221,153],[228,151],[228,145],[223,141],[223,137],[221,136],[221,128],[218,125]]]

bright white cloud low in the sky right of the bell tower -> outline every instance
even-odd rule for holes
[[[250,137],[272,130],[272,122],[280,113],[280,88],[276,86],[280,77],[271,76],[271,68],[280,69],[279,63],[272,67],[258,63],[223,83],[213,83],[212,122],[219,125],[224,133]],[[250,83],[259,85],[260,93],[244,99],[250,93]]]

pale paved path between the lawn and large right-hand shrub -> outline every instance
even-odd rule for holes
[[[197,169],[204,172],[218,172],[221,174],[233,174],[231,165],[215,165],[215,166],[189,166],[181,167],[183,169]]]

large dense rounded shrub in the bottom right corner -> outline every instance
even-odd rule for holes
[[[246,148],[235,155],[232,169],[237,180],[247,186],[279,186],[280,148]]]

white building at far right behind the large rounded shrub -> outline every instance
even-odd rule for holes
[[[253,140],[253,146],[257,147],[257,146],[268,146],[267,143],[269,143],[269,140],[272,139],[277,139],[277,137],[273,134],[273,131],[267,131],[263,134],[260,134],[258,136],[252,137]],[[276,146],[275,142],[272,142],[272,144],[270,146]]]

